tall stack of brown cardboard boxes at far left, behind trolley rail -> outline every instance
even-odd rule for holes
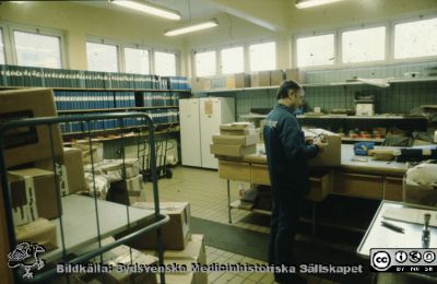
[[[2,121],[24,118],[55,117],[57,115],[51,90],[35,88],[0,93]],[[51,128],[51,129],[50,129]],[[51,139],[50,139],[51,133]],[[3,134],[4,165],[8,170],[12,218],[16,240],[44,245],[46,250],[57,248],[56,226],[48,222],[62,214],[60,197],[83,190],[84,178],[75,176],[83,165],[78,153],[64,152],[58,126],[31,126],[8,130]],[[54,165],[59,165],[54,168]],[[62,173],[58,176],[59,171]],[[67,178],[74,175],[74,178]],[[62,178],[64,177],[64,178]],[[1,188],[0,184],[0,190]],[[59,190],[59,192],[58,192]],[[0,194],[1,196],[1,194]],[[0,198],[0,258],[7,259],[9,240],[5,227],[4,203]],[[10,275],[5,262],[0,272]],[[1,273],[2,274],[2,273]]]

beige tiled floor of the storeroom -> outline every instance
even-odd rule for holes
[[[226,180],[218,178],[216,170],[205,170],[189,167],[173,168],[172,179],[160,179],[160,201],[188,201],[190,202],[191,215],[214,222],[228,224]],[[238,198],[238,186],[240,182],[231,182],[231,198]],[[249,185],[244,184],[247,188]],[[152,200],[151,184],[146,185],[146,199]],[[256,217],[248,211],[233,210],[233,226],[269,233],[265,217],[256,223]],[[247,222],[250,220],[251,222]],[[264,262],[246,256],[235,255],[213,247],[206,247],[206,261],[209,263],[260,263]],[[310,284],[329,284],[331,281],[308,276]],[[210,283],[275,283],[270,273],[231,273],[214,272],[209,274]]]

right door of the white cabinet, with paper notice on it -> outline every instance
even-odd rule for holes
[[[200,98],[200,143],[202,153],[202,167],[218,168],[217,158],[210,153],[212,135],[220,133],[222,123],[222,104],[217,97]]]

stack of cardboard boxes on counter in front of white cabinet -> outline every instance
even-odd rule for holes
[[[220,126],[212,137],[210,151],[216,156],[243,157],[257,152],[259,135],[252,123],[233,122]]]

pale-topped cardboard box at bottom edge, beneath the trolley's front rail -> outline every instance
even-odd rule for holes
[[[94,262],[99,262],[97,257]],[[103,262],[110,264],[114,268],[120,264],[130,265],[143,264],[143,265],[155,265],[157,264],[157,258],[145,255],[135,249],[131,249],[128,246],[119,246],[111,249],[103,255]],[[108,284],[155,284],[156,275],[153,273],[121,273],[117,270],[113,270],[110,273],[104,274],[105,283]]]

